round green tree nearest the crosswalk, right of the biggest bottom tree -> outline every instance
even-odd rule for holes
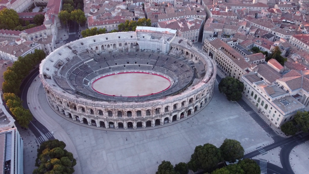
[[[236,161],[236,159],[243,158],[245,150],[240,142],[232,139],[225,139],[220,146],[221,155],[226,161]]]

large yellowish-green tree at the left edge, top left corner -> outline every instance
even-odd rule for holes
[[[13,9],[4,8],[0,11],[0,29],[14,30],[19,25],[19,16]]]

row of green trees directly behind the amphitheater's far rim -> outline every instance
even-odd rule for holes
[[[151,26],[151,20],[150,19],[146,19],[146,18],[142,18],[142,19],[138,19],[138,21],[134,21],[134,20],[126,20],[125,23],[121,23],[118,25],[118,30],[114,29],[109,33],[115,33],[115,32],[126,32],[126,31],[135,31],[137,26],[147,26],[150,27]],[[89,37],[89,36],[94,36],[94,35],[98,35],[98,34],[104,34],[106,33],[106,29],[105,28],[87,28],[86,30],[82,31],[82,36],[83,37]]]

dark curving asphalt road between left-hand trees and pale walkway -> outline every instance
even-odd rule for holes
[[[29,109],[28,102],[27,102],[27,93],[28,89],[32,83],[32,81],[39,75],[39,68],[34,69],[24,80],[23,83],[20,85],[20,91],[19,97],[23,101],[23,107],[25,109]],[[41,133],[46,134],[49,132],[47,128],[40,122],[36,121],[36,119],[32,116],[32,121],[29,124],[29,129],[33,132],[33,134],[36,136],[36,138],[42,136]],[[41,133],[39,132],[41,131]],[[54,140],[55,138],[52,136],[48,138],[49,140]]]

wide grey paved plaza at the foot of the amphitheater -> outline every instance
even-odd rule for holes
[[[237,102],[227,101],[218,92],[218,84],[208,106],[187,120],[151,130],[106,129],[107,133],[57,115],[47,104],[43,86],[33,85],[39,88],[38,99],[32,102],[37,102],[66,131],[77,151],[82,173],[153,174],[159,165],[157,161],[168,160],[173,165],[188,162],[195,146],[204,143],[219,147],[225,138],[236,139],[249,152],[273,142]]]

